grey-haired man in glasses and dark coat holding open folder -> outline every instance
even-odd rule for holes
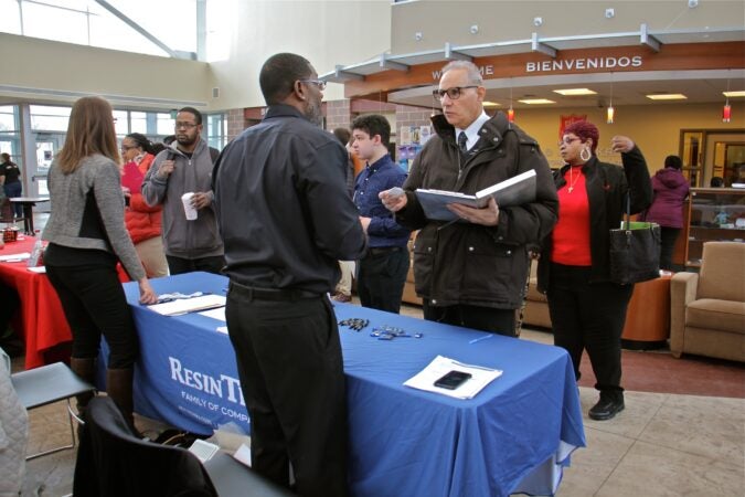
[[[428,320],[515,336],[529,272],[529,247],[556,222],[557,199],[551,170],[538,142],[504,113],[483,112],[486,88],[479,68],[465,61],[443,68],[435,99],[443,115],[435,134],[412,166],[403,193],[380,194],[400,224],[421,230],[414,246],[416,293]],[[449,204],[459,222],[425,218],[417,188],[477,191],[534,169],[533,202],[500,209]]]

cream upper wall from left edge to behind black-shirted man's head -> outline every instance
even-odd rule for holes
[[[307,57],[322,74],[386,52],[391,2],[240,0],[231,15],[230,56],[211,64],[140,55],[0,33],[0,103],[19,98],[70,103],[103,94],[114,104],[169,109],[193,105],[227,110],[264,105],[258,70],[278,52]],[[9,86],[38,88],[19,94]],[[212,88],[220,97],[212,98]],[[326,99],[343,97],[330,84]]]

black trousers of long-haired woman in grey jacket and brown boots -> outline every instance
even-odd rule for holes
[[[108,367],[129,369],[139,346],[116,266],[50,266],[46,276],[60,296],[73,332],[72,356],[98,357],[102,334],[109,347]]]

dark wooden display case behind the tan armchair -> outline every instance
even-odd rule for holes
[[[692,188],[688,201],[685,265],[699,267],[704,242],[745,243],[745,189]]]

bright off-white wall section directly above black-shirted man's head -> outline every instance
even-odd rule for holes
[[[391,45],[391,2],[368,1],[238,1],[233,42],[226,61],[213,62],[220,86],[214,109],[264,105],[258,71],[278,52],[308,59],[319,74],[372,59]],[[330,84],[324,98],[343,97],[341,85]]]

